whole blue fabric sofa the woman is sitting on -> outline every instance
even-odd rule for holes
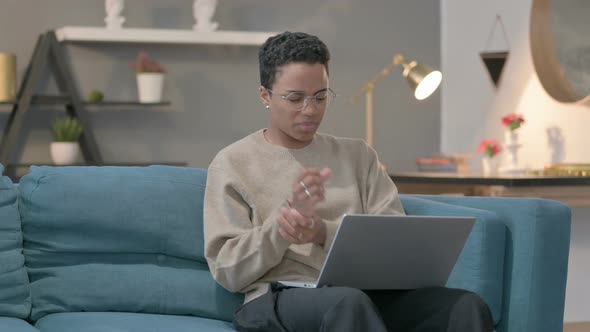
[[[233,331],[243,297],[220,287],[203,257],[206,175],[167,166],[33,167],[18,184],[2,177],[0,331]],[[448,286],[480,294],[497,331],[562,330],[568,207],[402,200],[408,214],[477,218]]]

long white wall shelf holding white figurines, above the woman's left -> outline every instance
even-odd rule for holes
[[[108,42],[155,44],[214,44],[260,46],[275,32],[214,31],[197,32],[179,29],[106,29],[65,26],[55,30],[60,42]]]

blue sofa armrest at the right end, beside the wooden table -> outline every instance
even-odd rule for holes
[[[563,330],[571,209],[537,198],[415,196],[488,210],[507,227],[498,332]]]

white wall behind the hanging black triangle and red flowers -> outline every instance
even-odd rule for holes
[[[546,129],[557,126],[564,137],[561,162],[589,163],[587,129],[590,107],[560,104],[544,91],[534,71],[529,44],[532,0],[443,0],[441,63],[445,75],[441,95],[441,150],[474,152],[483,138],[503,139],[500,119],[510,112],[524,115],[520,130],[520,165],[542,168],[551,161]],[[486,41],[496,14],[501,15],[510,57],[497,90],[479,53],[506,47],[496,27]],[[589,13],[590,14],[590,13]],[[479,167],[479,163],[472,163]],[[590,321],[590,209],[574,209],[566,321]]]

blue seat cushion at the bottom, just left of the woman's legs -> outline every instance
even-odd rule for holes
[[[232,324],[208,318],[121,312],[76,312],[41,318],[42,332],[215,332],[235,331]]]

